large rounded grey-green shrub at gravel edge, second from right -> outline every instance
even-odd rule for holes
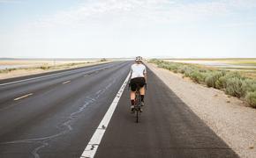
[[[245,90],[242,88],[243,84],[244,84],[244,81],[241,78],[237,78],[237,77],[230,78],[227,81],[227,87],[225,92],[230,96],[244,97]]]

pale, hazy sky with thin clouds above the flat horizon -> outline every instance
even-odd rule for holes
[[[256,0],[0,0],[0,58],[256,57]]]

